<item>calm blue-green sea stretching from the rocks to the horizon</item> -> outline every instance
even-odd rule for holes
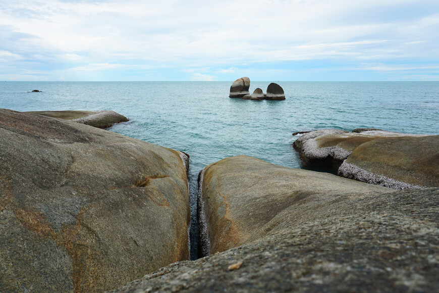
[[[302,168],[292,145],[297,131],[372,127],[439,134],[439,82],[273,81],[283,87],[285,101],[231,99],[232,82],[2,81],[0,108],[113,110],[129,121],[109,131],[188,153],[193,226],[198,173],[226,157]],[[270,82],[252,81],[250,93],[257,87],[265,92]]]

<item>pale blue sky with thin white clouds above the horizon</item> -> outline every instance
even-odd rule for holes
[[[0,80],[439,80],[439,0],[0,0]]]

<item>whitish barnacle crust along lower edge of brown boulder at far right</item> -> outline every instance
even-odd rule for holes
[[[340,166],[338,175],[349,179],[355,179],[357,181],[390,187],[393,189],[422,188],[421,186],[401,182],[384,175],[373,174],[367,170],[355,166],[354,164],[346,162],[343,162],[343,164]]]

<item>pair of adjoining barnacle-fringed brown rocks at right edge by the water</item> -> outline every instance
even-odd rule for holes
[[[439,186],[439,136],[324,129],[294,142],[305,166],[396,189]]]

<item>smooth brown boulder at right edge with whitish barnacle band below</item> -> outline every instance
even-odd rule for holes
[[[343,177],[396,189],[439,187],[439,135],[363,143],[338,172]]]

